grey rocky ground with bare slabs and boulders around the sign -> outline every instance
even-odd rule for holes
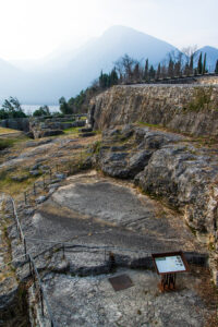
[[[12,181],[9,192],[20,203],[27,249],[59,326],[216,326],[217,295],[206,267],[216,254],[209,239],[216,237],[216,146],[125,125],[102,140],[27,141],[3,153],[0,170],[4,183]],[[33,182],[41,183],[44,171],[47,186],[34,194]],[[27,204],[19,185],[31,192]],[[15,226],[8,231],[15,259],[24,249]],[[160,293],[150,253],[173,250],[202,266],[191,264],[189,274],[178,276],[175,292]],[[28,280],[28,265],[20,264],[19,280]],[[108,278],[123,274],[133,286],[116,292]]]

